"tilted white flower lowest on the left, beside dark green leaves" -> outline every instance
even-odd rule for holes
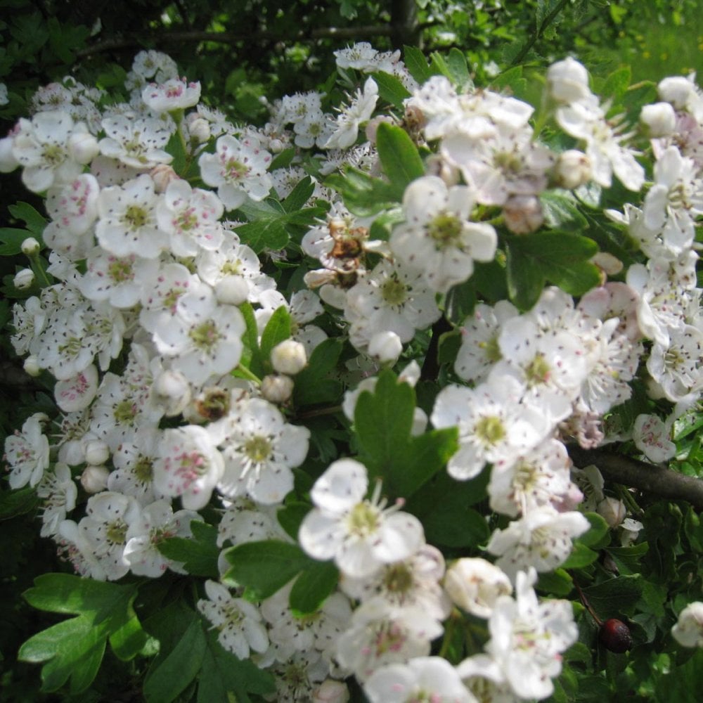
[[[265,652],[269,638],[256,606],[243,598],[232,598],[217,581],[205,581],[209,600],[198,600],[198,610],[219,631],[217,640],[239,659],[248,659],[251,652]]]

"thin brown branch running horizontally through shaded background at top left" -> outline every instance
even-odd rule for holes
[[[395,32],[393,25],[367,25],[362,27],[318,27],[313,30],[299,30],[290,34],[280,32],[160,32],[133,39],[106,39],[78,52],[78,58],[93,56],[103,51],[133,49],[145,44],[178,44],[183,41],[214,41],[219,44],[236,44],[238,41],[311,41],[315,39],[359,39],[359,37],[389,37]]]

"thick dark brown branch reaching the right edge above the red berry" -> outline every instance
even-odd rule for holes
[[[579,468],[595,464],[607,481],[631,486],[673,501],[686,501],[703,510],[703,481],[663,466],[633,459],[607,449],[569,446],[569,456]]]

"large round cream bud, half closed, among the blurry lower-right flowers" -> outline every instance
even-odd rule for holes
[[[510,595],[508,574],[485,559],[460,559],[447,569],[444,590],[463,610],[489,618],[498,596]]]

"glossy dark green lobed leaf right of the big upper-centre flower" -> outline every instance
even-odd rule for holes
[[[554,231],[505,239],[508,292],[521,310],[537,302],[546,281],[570,295],[583,295],[600,283],[598,266],[588,261],[598,247],[587,237]]]

